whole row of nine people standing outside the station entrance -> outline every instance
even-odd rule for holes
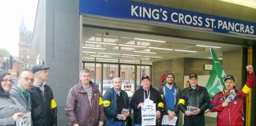
[[[13,86],[9,73],[0,74],[0,125],[15,125],[28,112],[35,126],[57,125],[57,104],[51,87],[46,84],[47,69],[45,65],[36,65],[32,72],[21,72],[17,86]],[[247,83],[242,90],[235,89],[234,76],[226,76],[226,88],[212,100],[206,88],[198,85],[195,73],[190,74],[189,86],[183,91],[175,83],[174,73],[165,76],[166,83],[161,84],[158,91],[152,87],[149,76],[142,76],[141,88],[130,99],[121,89],[119,77],[114,77],[113,87],[101,97],[91,81],[90,71],[83,69],[79,83],[73,85],[67,95],[64,113],[72,126],[125,126],[133,110],[133,125],[141,126],[141,108],[153,102],[156,104],[156,125],[164,125],[161,124],[164,116],[168,120],[179,118],[181,111],[185,126],[205,126],[205,110],[209,109],[218,113],[218,126],[243,126],[243,99],[254,87],[255,78],[251,65],[247,66],[247,72]],[[235,98],[228,99],[234,92]],[[178,126],[179,120],[173,125]]]

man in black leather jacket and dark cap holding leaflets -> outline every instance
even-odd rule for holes
[[[210,102],[209,94],[205,87],[198,86],[198,75],[191,73],[189,76],[190,87],[182,91],[179,99],[179,109],[184,114],[184,126],[205,126],[205,110]]]

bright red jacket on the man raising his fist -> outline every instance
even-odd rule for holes
[[[243,126],[243,100],[247,98],[250,89],[254,87],[254,73],[247,75],[247,83],[242,90],[235,91],[235,99],[227,107],[223,107],[222,92],[215,95],[209,105],[211,112],[217,112],[217,126]]]

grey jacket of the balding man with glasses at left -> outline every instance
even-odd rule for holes
[[[28,102],[26,101],[26,98],[24,98],[23,93],[18,89],[16,85],[13,85],[12,89],[9,91],[9,94],[13,98],[16,98],[17,101],[20,102],[22,106],[24,106],[27,112],[31,111],[31,98],[29,93],[28,93]]]

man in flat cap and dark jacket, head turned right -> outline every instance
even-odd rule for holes
[[[32,68],[34,83],[29,93],[32,101],[32,123],[35,126],[57,126],[57,104],[51,87],[46,83],[49,72],[46,65]]]

